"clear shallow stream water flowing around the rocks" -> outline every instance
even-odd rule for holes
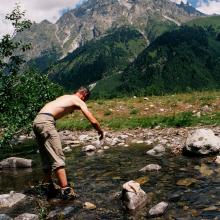
[[[78,148],[66,154],[68,178],[75,183],[75,190],[80,195],[78,202],[68,204],[75,205],[72,217],[150,219],[149,209],[166,201],[169,203],[166,213],[155,219],[220,219],[220,167],[214,164],[214,158],[189,158],[169,153],[152,157],[145,154],[148,149],[149,146],[144,145],[117,147],[103,154],[86,156]],[[35,160],[33,169],[0,171],[1,194],[11,190],[21,192],[39,181],[42,176],[39,155],[26,157]],[[159,164],[162,169],[139,172],[151,163]],[[151,198],[150,203],[136,213],[124,210],[116,197],[123,183],[129,180],[141,182],[142,189]],[[82,209],[86,201],[94,203],[97,209]],[[31,209],[31,204],[29,206]],[[49,209],[59,206],[50,204]]]

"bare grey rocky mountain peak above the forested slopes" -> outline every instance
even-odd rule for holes
[[[197,16],[201,16],[201,13],[191,6],[177,5],[169,0],[87,0],[81,6],[66,12],[55,24],[41,22],[26,36],[31,34],[29,39],[36,48],[31,57],[40,56],[42,48],[50,51],[51,45],[53,51],[56,48],[58,54],[65,56],[114,27],[133,26],[148,38],[148,27],[152,21],[180,25]],[[35,30],[40,30],[41,35]],[[40,39],[42,35],[49,39],[43,47]]]

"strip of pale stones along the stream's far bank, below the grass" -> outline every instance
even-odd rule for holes
[[[94,131],[61,131],[64,151],[80,145],[93,145],[95,148],[91,151],[109,149],[110,147],[128,147],[133,144],[146,144],[153,147],[165,148],[173,154],[181,154],[186,143],[187,137],[198,129],[211,129],[216,136],[220,136],[220,127],[189,127],[189,128],[160,128],[159,126],[150,128],[140,128],[124,131],[106,131],[105,139],[98,141],[97,134]],[[65,146],[67,147],[65,149]],[[90,151],[90,150],[88,150]]]

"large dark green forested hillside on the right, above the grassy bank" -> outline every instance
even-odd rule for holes
[[[181,27],[158,37],[122,74],[124,94],[217,89],[220,41],[214,29]]]

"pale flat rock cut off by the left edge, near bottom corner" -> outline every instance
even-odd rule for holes
[[[9,194],[0,195],[0,208],[10,208],[16,203],[20,202],[26,196],[22,193],[15,193],[11,191]]]

